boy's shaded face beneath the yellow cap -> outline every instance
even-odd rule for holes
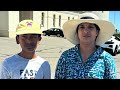
[[[17,44],[20,44],[22,51],[25,52],[35,52],[40,40],[41,35],[38,34],[23,34],[16,36]]]

